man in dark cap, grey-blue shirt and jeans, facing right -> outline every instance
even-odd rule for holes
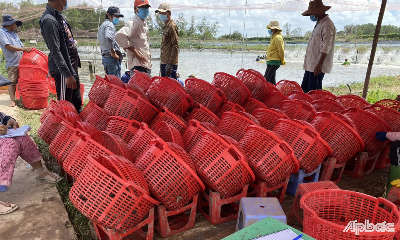
[[[102,64],[106,74],[118,76],[121,78],[122,52],[120,46],[114,39],[117,33],[115,25],[118,25],[120,18],[124,15],[120,13],[117,7],[109,7],[106,13],[106,20],[101,24],[98,30],[100,50],[102,55]]]

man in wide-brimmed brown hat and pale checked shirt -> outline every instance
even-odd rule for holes
[[[308,10],[302,13],[303,16],[310,16],[311,21],[317,22],[304,57],[305,72],[301,88],[305,93],[322,89],[325,74],[332,71],[336,30],[329,15],[325,13],[330,8],[322,0],[313,0],[308,5]]]

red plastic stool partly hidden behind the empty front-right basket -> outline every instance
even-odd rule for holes
[[[322,182],[308,182],[299,184],[296,195],[294,196],[293,201],[293,208],[292,212],[290,213],[290,217],[292,218],[293,215],[296,216],[297,220],[303,226],[303,219],[300,216],[298,210],[300,209],[300,197],[307,192],[311,192],[318,189],[340,189],[334,182],[332,181],[322,181]]]

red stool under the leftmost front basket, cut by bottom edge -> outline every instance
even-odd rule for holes
[[[115,229],[106,228],[100,224],[93,222],[98,240],[153,240],[154,236],[154,208],[150,209],[148,218],[140,222],[134,228],[120,232]],[[142,230],[147,225],[147,232]]]

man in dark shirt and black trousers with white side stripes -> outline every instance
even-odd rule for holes
[[[71,102],[79,113],[82,111],[78,77],[80,60],[70,25],[61,13],[67,8],[66,0],[48,0],[39,25],[50,50],[48,66],[56,81],[57,99]]]

